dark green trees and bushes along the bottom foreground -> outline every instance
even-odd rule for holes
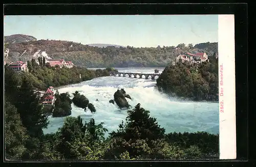
[[[94,119],[83,123],[80,117],[67,117],[56,133],[33,138],[33,147],[6,145],[7,156],[8,159],[24,159],[25,150],[33,153],[26,157],[31,160],[194,159],[218,156],[218,135],[203,132],[165,134],[164,128],[149,114],[138,104],[128,111],[126,123],[122,122],[108,138],[104,138],[108,130],[103,123],[97,124]],[[26,130],[22,126],[19,129],[19,135],[23,136],[21,140],[28,140]],[[7,134],[12,133],[7,127],[6,131]],[[6,141],[10,141],[7,136]],[[13,137],[13,140],[18,138]],[[21,151],[16,152],[16,149]]]

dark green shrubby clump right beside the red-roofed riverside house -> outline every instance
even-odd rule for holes
[[[61,93],[59,95],[58,91],[55,94],[56,100],[54,103],[54,109],[52,112],[53,117],[65,117],[71,115],[71,104],[69,93]]]

